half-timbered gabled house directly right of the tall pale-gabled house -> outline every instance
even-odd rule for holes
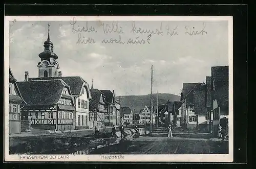
[[[104,100],[105,97],[103,93],[98,90],[91,88],[92,100],[89,103],[89,122],[90,128],[94,128],[97,123],[101,128],[105,126],[105,113],[108,112],[108,107],[106,106]]]

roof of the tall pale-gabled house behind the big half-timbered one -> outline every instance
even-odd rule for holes
[[[88,90],[88,98],[91,99],[91,93],[89,89],[89,85],[86,81],[84,81],[80,76],[66,76],[66,77],[48,77],[48,78],[29,78],[29,81],[33,80],[54,80],[54,79],[62,79],[65,81],[71,89],[72,95],[79,95],[83,84],[86,83]]]

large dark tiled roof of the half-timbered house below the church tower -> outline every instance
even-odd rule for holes
[[[56,105],[64,87],[69,86],[61,79],[17,82],[27,105]]]

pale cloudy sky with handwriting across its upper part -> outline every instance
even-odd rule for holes
[[[18,81],[25,71],[38,77],[48,22],[62,76],[81,76],[90,86],[93,79],[94,88],[116,95],[150,94],[152,65],[153,92],[177,95],[182,83],[205,82],[211,66],[228,65],[228,21],[10,21],[10,67]],[[112,25],[120,33],[107,32]],[[198,34],[189,35],[193,30]],[[105,43],[119,37],[124,44]]]

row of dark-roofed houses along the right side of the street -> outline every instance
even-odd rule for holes
[[[228,124],[228,66],[211,67],[206,83],[183,83],[180,101],[158,106],[159,124],[217,133]]]

